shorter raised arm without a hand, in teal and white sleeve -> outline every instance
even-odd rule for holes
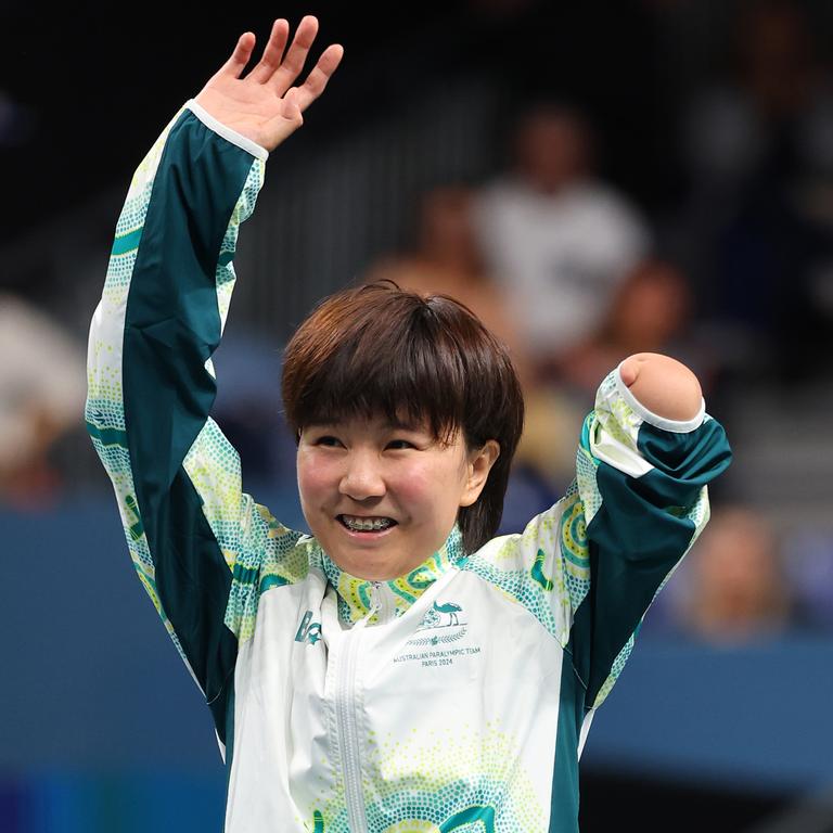
[[[585,420],[577,478],[560,542],[563,569],[587,580],[571,599],[569,650],[600,705],[648,607],[709,517],[707,484],[731,462],[696,376],[668,356],[637,354],[599,387]]]

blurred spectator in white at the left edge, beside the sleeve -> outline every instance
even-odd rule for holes
[[[48,504],[65,486],[50,451],[84,423],[84,349],[47,315],[0,293],[0,502]]]

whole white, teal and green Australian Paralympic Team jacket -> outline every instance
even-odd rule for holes
[[[128,549],[212,710],[227,833],[578,829],[578,759],[708,518],[721,426],[601,384],[565,497],[407,576],[341,572],[242,490],[208,416],[267,151],[195,102],[137,169],[89,337],[87,427]]]

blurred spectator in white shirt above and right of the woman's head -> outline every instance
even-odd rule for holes
[[[514,139],[514,169],[482,189],[476,226],[526,348],[534,361],[550,361],[599,326],[650,234],[630,203],[594,177],[579,113],[536,104]]]

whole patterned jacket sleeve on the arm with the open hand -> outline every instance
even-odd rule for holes
[[[139,579],[222,743],[244,618],[230,595],[290,531],[242,492],[240,458],[208,416],[238,230],[267,155],[195,102],[179,110],[133,175],[88,345],[87,430]]]

